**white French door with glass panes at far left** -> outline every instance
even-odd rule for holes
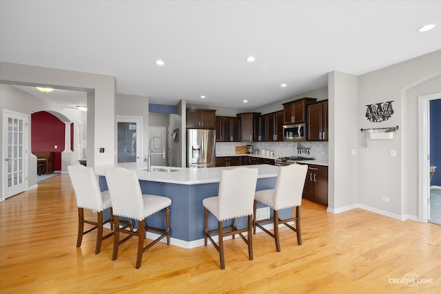
[[[3,198],[25,191],[28,159],[28,116],[3,111]]]

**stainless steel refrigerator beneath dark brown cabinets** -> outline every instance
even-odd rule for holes
[[[216,166],[216,130],[187,129],[187,167]]]

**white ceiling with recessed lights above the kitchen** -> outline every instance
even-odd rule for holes
[[[0,60],[112,75],[118,93],[150,103],[252,109],[325,86],[334,70],[440,50],[440,26],[441,1],[1,0]]]

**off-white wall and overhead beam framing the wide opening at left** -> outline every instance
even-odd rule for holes
[[[1,62],[0,83],[88,92],[88,165],[114,163],[115,132],[109,127],[116,120],[114,76]],[[99,154],[100,147],[105,147],[105,154]]]

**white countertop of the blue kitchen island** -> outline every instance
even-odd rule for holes
[[[240,155],[240,154],[238,154]],[[234,169],[236,167],[208,167],[202,169],[187,167],[156,167],[160,169],[178,169],[178,171],[147,171],[147,162],[125,162],[115,165],[96,165],[94,166],[95,174],[104,176],[104,170],[113,167],[124,167],[132,169],[138,174],[139,180],[150,180],[153,182],[169,182],[181,185],[198,185],[220,181],[220,172],[224,169]],[[240,167],[257,168],[258,178],[272,178],[278,174],[278,167],[274,165],[241,165]]]

